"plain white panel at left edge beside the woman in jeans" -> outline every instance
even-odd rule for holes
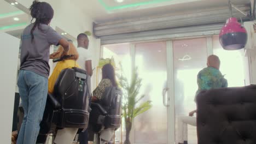
[[[0,33],[2,46],[0,57],[0,135],[1,143],[11,143],[14,95],[20,40],[6,33]]]

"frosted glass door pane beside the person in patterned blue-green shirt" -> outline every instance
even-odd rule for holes
[[[197,74],[206,67],[206,38],[173,41],[175,116],[188,116],[196,109]],[[177,120],[177,119],[176,119]],[[177,133],[177,121],[176,121]],[[177,135],[176,135],[177,139]],[[188,141],[197,143],[196,127],[188,125]]]

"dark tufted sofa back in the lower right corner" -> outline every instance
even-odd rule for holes
[[[256,85],[203,91],[196,101],[198,144],[256,143]]]

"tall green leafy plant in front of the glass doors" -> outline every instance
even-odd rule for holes
[[[121,71],[123,69],[121,68]],[[142,102],[145,95],[139,95],[139,89],[142,86],[142,79],[138,77],[137,68],[132,71],[129,81],[123,73],[118,76],[119,85],[123,90],[123,117],[125,119],[126,139],[125,144],[130,144],[130,132],[133,119],[152,107],[150,100]]]

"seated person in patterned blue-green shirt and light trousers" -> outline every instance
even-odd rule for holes
[[[197,74],[197,85],[195,99],[197,94],[203,90],[228,87],[228,81],[224,78],[224,75],[219,71],[220,60],[216,55],[211,55],[207,58],[207,68],[202,69]],[[188,143],[188,124],[196,126],[196,117],[194,116],[196,110],[189,112],[188,116],[178,117],[178,140],[179,144]]]

